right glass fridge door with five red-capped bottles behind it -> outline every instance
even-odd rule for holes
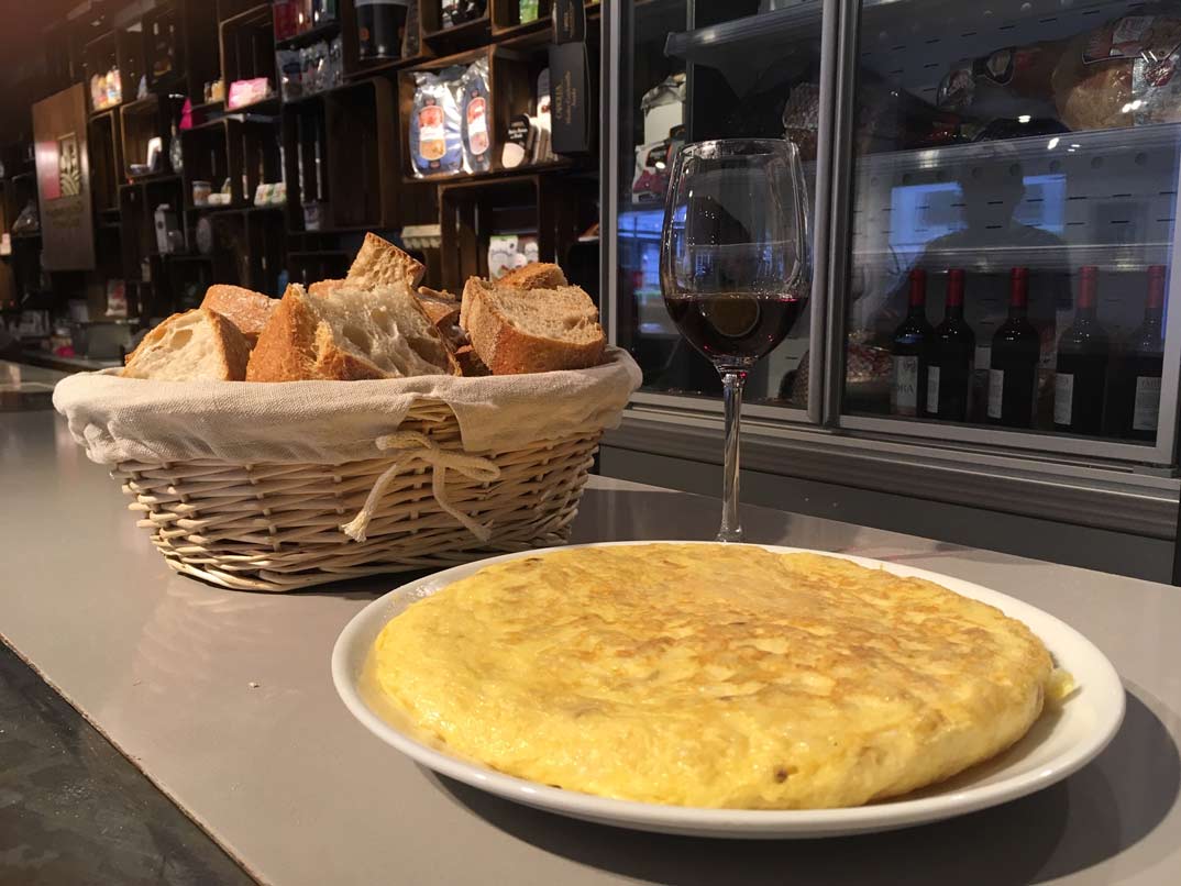
[[[864,0],[855,33],[839,424],[1173,464],[1181,5]]]

